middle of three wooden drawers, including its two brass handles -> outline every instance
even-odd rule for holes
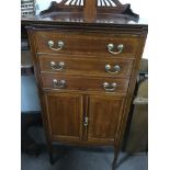
[[[41,55],[38,57],[41,71],[129,77],[133,68],[131,59],[79,59],[64,56]]]

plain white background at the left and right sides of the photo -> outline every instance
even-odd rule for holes
[[[145,18],[149,33],[149,170],[170,170],[170,26],[169,1],[129,0]],[[20,1],[1,2],[0,169],[21,169],[21,25]]]

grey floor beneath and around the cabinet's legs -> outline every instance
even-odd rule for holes
[[[31,136],[36,143],[45,143],[41,128],[30,129]],[[44,145],[45,146],[45,145]],[[49,163],[45,147],[41,148],[38,157],[22,154],[22,170],[111,170],[114,157],[112,147],[68,147],[57,146],[54,155],[55,165]],[[145,154],[127,156],[121,152],[117,160],[117,170],[147,170],[148,158]]]

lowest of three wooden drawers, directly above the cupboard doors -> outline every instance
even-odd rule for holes
[[[126,93],[128,79],[42,73],[43,89],[88,90]]]

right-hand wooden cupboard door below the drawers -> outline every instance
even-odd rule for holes
[[[110,95],[90,95],[88,98],[89,132],[88,140],[113,143],[118,133],[124,99]]]

